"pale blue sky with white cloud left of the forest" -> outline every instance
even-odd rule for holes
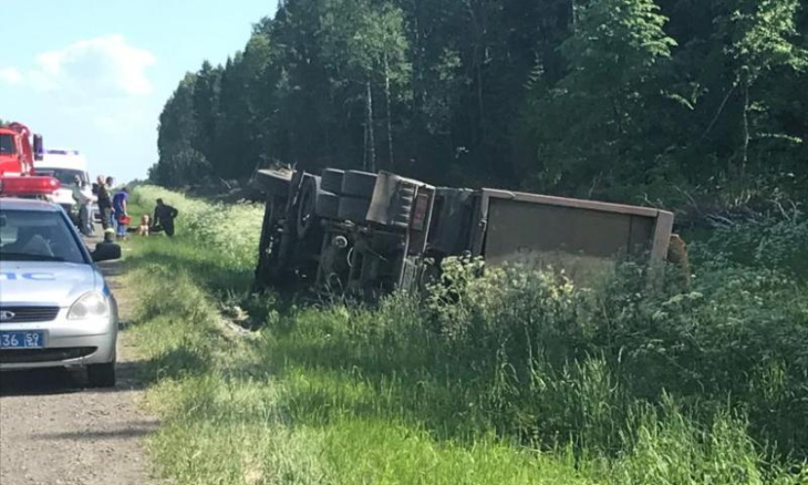
[[[7,10],[0,120],[79,149],[91,177],[145,178],[157,123],[186,72],[224,63],[277,0],[28,0]]]

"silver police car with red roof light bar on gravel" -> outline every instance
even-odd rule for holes
[[[95,262],[121,247],[91,252],[58,204],[9,198],[44,190],[20,178],[0,178],[0,371],[77,365],[114,386],[117,305]]]

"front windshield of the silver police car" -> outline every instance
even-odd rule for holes
[[[0,260],[83,264],[79,245],[59,213],[0,208]]]

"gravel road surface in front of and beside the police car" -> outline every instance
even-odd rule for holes
[[[117,271],[104,267],[126,322],[132,305]],[[85,376],[66,370],[0,373],[0,484],[152,483],[143,438],[157,422],[138,409],[137,365],[123,331],[113,390],[85,389]]]

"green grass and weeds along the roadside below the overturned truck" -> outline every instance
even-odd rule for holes
[[[456,260],[365,308],[251,295],[261,208],[141,186],[133,215],[158,196],[178,236],[126,264],[179,484],[808,483],[799,213],[703,237],[687,293]]]

